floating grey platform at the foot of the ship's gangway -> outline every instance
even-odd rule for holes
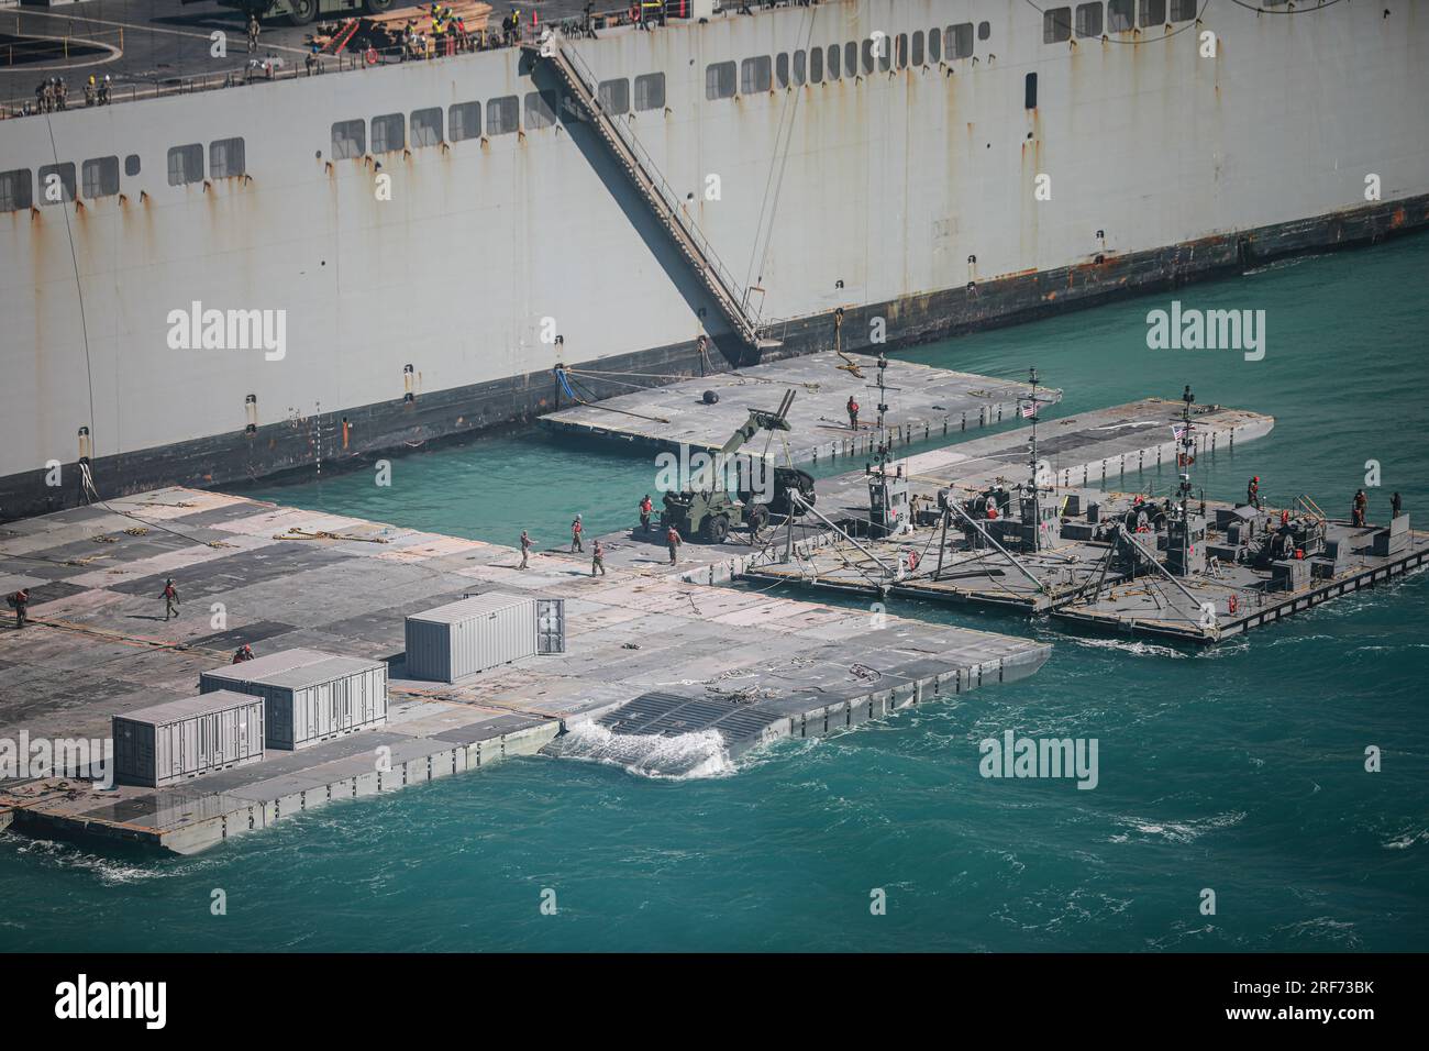
[[[722,372],[669,386],[632,390],[596,405],[574,405],[540,418],[557,433],[624,442],[642,450],[719,449],[745,423],[750,409],[773,412],[785,390],[796,392],[789,412],[790,432],[775,438],[770,452],[783,462],[785,445],[793,463],[867,456],[877,440],[877,359],[867,355],[823,352],[770,365]],[[856,367],[860,375],[850,369]],[[580,370],[573,370],[579,379]],[[592,373],[596,375],[596,373]],[[600,373],[604,379],[604,373]],[[993,426],[1017,416],[1026,383],[890,360],[887,373],[889,440],[900,448]],[[630,386],[649,380],[632,376]],[[719,400],[706,405],[704,392]],[[849,426],[849,398],[859,403],[859,429]],[[1037,398],[1055,402],[1060,392],[1037,388]],[[750,442],[762,450],[767,435]]]

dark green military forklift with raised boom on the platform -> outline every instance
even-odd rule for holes
[[[666,528],[674,526],[680,536],[699,536],[706,543],[723,543],[729,536],[730,525],[743,522],[749,529],[750,539],[755,533],[769,525],[772,513],[785,518],[796,518],[800,508],[790,500],[790,492],[799,493],[803,505],[815,500],[813,476],[797,468],[775,468],[773,492],[767,502],[757,499],[750,488],[730,492],[722,485],[723,468],[732,462],[735,453],[760,430],[789,430],[789,406],[795,400],[795,392],[786,390],[776,412],[750,409],[749,419],[745,420],[723,448],[714,455],[714,479],[709,488],[686,489],[683,492],[664,493],[664,513],[660,523]],[[745,478],[752,482],[753,472]]]

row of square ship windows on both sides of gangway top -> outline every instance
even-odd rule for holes
[[[606,80],[600,84],[600,103],[614,114],[630,112],[630,82]],[[556,123],[560,104],[554,92],[529,92],[526,94],[527,130],[550,127]],[[634,109],[657,110],[664,106],[664,74],[649,73],[634,79]],[[464,139],[480,139],[482,103],[462,102],[447,107],[446,137],[442,134],[442,107],[413,110],[410,120],[402,113],[384,113],[372,119],[372,152],[390,153],[407,149],[407,132],[412,132],[412,149],[440,146],[443,142],[459,143]],[[367,153],[367,123],[364,120],[339,120],[333,124],[333,160],[352,160]],[[522,100],[514,94],[489,99],[486,103],[486,134],[512,134],[522,129]]]

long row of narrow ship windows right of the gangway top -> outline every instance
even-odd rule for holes
[[[986,40],[992,36],[992,26],[986,21],[977,24],[977,39]],[[773,60],[767,54],[745,59],[736,66],[733,61],[716,61],[704,67],[704,97],[733,99],[736,92],[736,71],[739,74],[739,94],[756,94],[770,90],[777,82],[779,87],[802,87],[803,84],[822,84],[826,80],[859,76],[860,61],[865,74],[872,74],[875,69],[889,71],[895,63],[897,69],[909,66],[923,66],[929,61],[949,61],[970,59],[973,54],[973,24],[965,21],[959,26],[933,29],[926,34],[923,30],[913,33],[899,33],[892,39],[892,47],[885,43],[886,37],[863,40],[862,50],[856,43],[829,44],[813,47],[807,51],[795,51],[793,60],[787,53],[779,54]],[[882,44],[882,46],[880,46]]]

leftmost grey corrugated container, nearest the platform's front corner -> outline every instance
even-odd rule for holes
[[[114,779],[163,788],[263,759],[263,698],[220,689],[116,715]]]

